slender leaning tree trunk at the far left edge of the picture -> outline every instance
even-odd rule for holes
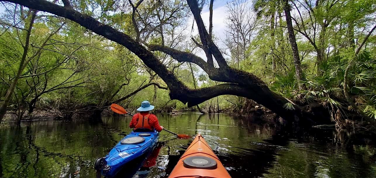
[[[36,16],[36,11],[33,11],[32,12],[32,17],[30,19],[29,28],[28,28],[28,31],[26,33],[25,46],[24,46],[24,51],[23,51],[23,54],[22,54],[20,66],[18,67],[17,74],[14,77],[11,86],[9,86],[9,89],[6,92],[4,101],[2,102],[2,104],[0,106],[0,123],[3,120],[3,118],[4,118],[6,110],[8,109],[9,101],[11,101],[12,94],[14,92],[14,89],[15,89],[16,85],[17,85],[18,79],[20,78],[21,72],[26,67],[25,61],[27,61],[26,57],[27,57],[27,51],[29,51],[30,34],[31,34],[31,30],[33,28],[33,23],[34,23],[34,20],[35,20],[35,16]]]

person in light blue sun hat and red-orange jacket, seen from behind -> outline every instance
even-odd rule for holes
[[[133,116],[129,127],[137,132],[153,131],[154,129],[158,132],[162,131],[164,127],[159,125],[157,116],[149,113],[153,109],[154,106],[150,105],[149,101],[143,101],[141,107],[137,109],[139,113]]]

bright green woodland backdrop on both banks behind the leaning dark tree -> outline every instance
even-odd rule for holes
[[[132,2],[135,4],[135,1]],[[198,51],[190,36],[182,32],[187,28],[189,14],[185,1],[143,1],[135,15],[140,34],[136,34],[127,1],[74,0],[71,3],[76,10],[91,15],[132,38],[140,35],[140,42],[164,43],[165,46],[181,51],[194,51],[193,53]],[[343,95],[344,71],[349,60],[355,57],[356,46],[374,26],[375,3],[374,0],[312,3],[314,2],[300,1],[292,6],[293,12],[299,10],[293,16],[304,78],[299,83],[305,84],[304,91],[299,91],[295,77],[282,2],[255,0],[253,7],[244,0],[229,3],[226,7],[231,17],[226,18],[226,25],[231,34],[226,35],[226,39],[220,39],[216,35],[214,38],[215,41],[223,41],[229,50],[224,51],[230,52],[226,60],[231,67],[255,74],[273,91],[293,103],[319,101],[332,109],[346,109],[349,103]],[[205,1],[200,5],[204,6]],[[19,6],[4,6],[9,11],[5,11],[0,17],[0,99],[3,99],[17,73],[26,34],[22,28],[26,28],[30,21],[29,9],[24,8],[21,12]],[[255,13],[251,9],[256,11],[255,17],[252,16]],[[32,45],[27,53],[28,57],[34,57],[22,71],[11,98],[12,106],[27,108],[34,103],[35,107],[41,109],[69,112],[88,107],[102,109],[108,103],[120,100],[150,82],[165,86],[155,72],[123,46],[71,21],[65,22],[62,18],[43,12],[38,12],[37,15],[30,39]],[[26,17],[21,18],[23,16]],[[234,22],[235,18],[243,20]],[[59,26],[62,28],[59,29]],[[191,24],[188,24],[188,29],[190,27]],[[46,39],[55,30],[58,32]],[[194,39],[200,43],[198,36],[194,36]],[[375,40],[374,35],[368,38],[364,44],[365,51],[356,56],[356,64],[349,71],[350,96],[359,108],[374,118]],[[192,89],[195,85],[202,88],[220,84],[210,80],[194,64],[179,63],[159,51],[153,53]],[[318,59],[318,54],[321,54],[322,59]],[[158,89],[153,85],[118,103],[128,109],[135,109],[144,100],[152,101],[159,111],[169,110],[171,107],[187,109],[179,101],[170,101],[168,90]],[[285,108],[294,109],[293,103],[285,104]],[[231,108],[241,111],[248,110],[250,105],[252,103],[244,98],[220,96],[205,101],[200,107],[205,110]]]

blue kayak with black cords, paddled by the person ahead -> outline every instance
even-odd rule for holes
[[[113,177],[121,170],[121,167],[140,157],[146,152],[152,151],[159,139],[159,133],[131,132],[118,142],[106,157],[98,158],[94,167],[104,176]]]

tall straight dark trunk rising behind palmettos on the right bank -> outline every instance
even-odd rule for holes
[[[300,68],[300,57],[299,57],[299,51],[298,51],[298,45],[296,44],[296,38],[293,28],[293,22],[291,20],[291,8],[288,3],[288,0],[284,0],[284,11],[286,15],[286,23],[287,23],[287,33],[288,33],[288,39],[291,44],[292,52],[293,52],[293,58],[294,58],[294,65],[295,65],[295,74],[296,74],[296,80],[299,84],[299,89],[303,90],[305,89],[305,86],[301,84],[300,80],[302,80],[302,69]]]

